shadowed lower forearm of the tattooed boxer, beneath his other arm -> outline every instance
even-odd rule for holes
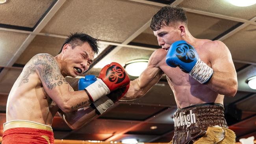
[[[83,125],[87,124],[96,116],[95,109],[91,107],[85,107],[78,111],[63,114],[63,119],[71,129],[79,129]]]

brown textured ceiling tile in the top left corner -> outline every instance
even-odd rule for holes
[[[8,0],[0,5],[0,23],[33,28],[54,0]]]

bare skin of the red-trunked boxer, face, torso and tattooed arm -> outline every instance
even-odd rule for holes
[[[56,57],[37,54],[24,66],[9,93],[6,122],[29,120],[51,126],[55,114],[59,112],[72,125],[86,114],[90,114],[90,118],[96,115],[92,109],[78,114],[82,111],[77,109],[88,106],[91,100],[84,90],[74,91],[64,78],[85,72],[93,61],[94,52],[87,42],[73,49],[71,47],[65,44],[63,52]],[[77,72],[74,67],[82,72]]]

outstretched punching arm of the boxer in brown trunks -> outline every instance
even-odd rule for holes
[[[163,75],[163,71],[158,67],[161,58],[155,51],[148,61],[147,68],[141,73],[139,78],[130,81],[130,88],[121,100],[134,100],[144,96]],[[164,57],[165,58],[165,57]]]

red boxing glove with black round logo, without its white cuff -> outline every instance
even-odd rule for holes
[[[130,83],[124,68],[115,62],[104,66],[98,78],[102,79],[110,91],[126,87]]]

